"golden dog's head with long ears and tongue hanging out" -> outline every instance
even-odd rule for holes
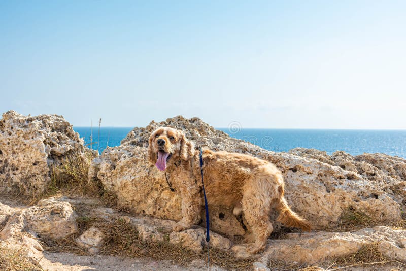
[[[160,171],[166,170],[173,161],[187,161],[194,155],[193,142],[186,139],[183,131],[169,127],[157,128],[148,140],[148,155]]]

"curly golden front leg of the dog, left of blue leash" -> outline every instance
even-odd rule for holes
[[[174,231],[190,228],[200,221],[201,198],[200,188],[193,182],[185,183],[180,189],[182,197],[182,219],[175,224]]]

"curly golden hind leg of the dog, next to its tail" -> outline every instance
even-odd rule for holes
[[[253,243],[248,246],[249,253],[257,253],[265,248],[266,240],[274,230],[269,221],[270,207],[275,195],[256,181],[249,182],[241,201],[245,220],[252,231]],[[266,186],[266,185],[265,185]]]

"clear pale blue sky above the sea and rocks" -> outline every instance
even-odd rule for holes
[[[406,129],[406,1],[0,1],[0,111]]]

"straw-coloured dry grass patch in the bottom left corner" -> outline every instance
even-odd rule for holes
[[[0,270],[4,271],[39,271],[42,268],[33,265],[31,261],[25,257],[24,247],[19,249],[10,249],[7,246],[0,246]]]

